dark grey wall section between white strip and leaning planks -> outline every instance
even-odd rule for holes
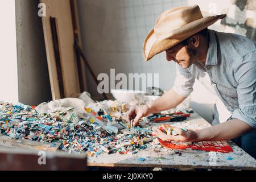
[[[51,101],[39,1],[16,0],[19,102],[38,105]]]

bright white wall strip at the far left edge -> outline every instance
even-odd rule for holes
[[[15,1],[0,1],[0,101],[18,101]],[[3,6],[4,5],[4,6]]]

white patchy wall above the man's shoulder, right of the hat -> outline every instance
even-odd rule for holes
[[[189,5],[197,4],[202,11],[226,14],[226,18],[210,28],[240,34],[256,41],[256,1],[254,0],[189,0]]]

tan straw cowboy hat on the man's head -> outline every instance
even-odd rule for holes
[[[226,15],[203,16],[199,6],[175,7],[164,11],[147,35],[143,46],[146,61],[207,28]]]

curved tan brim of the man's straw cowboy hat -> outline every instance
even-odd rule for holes
[[[171,47],[196,34],[197,32],[204,30],[204,28],[209,27],[211,24],[217,22],[217,20],[225,18],[225,16],[225,14],[222,14],[216,16],[208,16],[195,20],[160,38],[156,38],[154,29],[152,29],[144,41],[144,60],[150,60],[155,55],[166,51],[167,49],[170,49]]]

